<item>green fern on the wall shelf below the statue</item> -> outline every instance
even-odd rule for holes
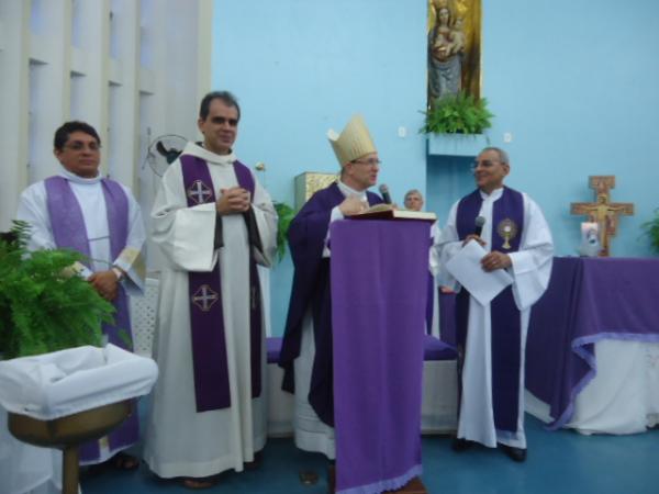
[[[436,99],[427,112],[421,132],[426,134],[482,134],[492,126],[494,116],[488,110],[484,98],[477,100],[471,94],[459,92]]]

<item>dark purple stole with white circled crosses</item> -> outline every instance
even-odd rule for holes
[[[188,206],[215,202],[215,191],[208,164],[196,156],[182,155],[183,187]],[[238,184],[254,198],[255,182],[249,168],[234,161]],[[249,343],[252,349],[252,397],[261,393],[261,295],[254,247],[260,248],[260,239],[254,221],[254,211],[244,213],[249,236]],[[216,226],[216,228],[220,225]],[[197,412],[227,408],[231,406],[226,340],[224,337],[224,312],[222,308],[222,282],[220,261],[210,272],[188,273],[190,294],[190,329],[192,336],[192,361]]]

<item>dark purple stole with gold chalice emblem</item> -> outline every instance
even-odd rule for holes
[[[480,191],[462,198],[458,204],[457,229],[460,240],[473,233],[473,222],[482,204]],[[517,228],[516,235],[509,239],[498,233],[503,221],[512,221]],[[524,198],[507,187],[501,198],[494,202],[492,211],[492,250],[515,252],[520,249],[520,239],[524,226]],[[488,239],[485,239],[487,242]],[[469,292],[462,289],[457,297],[457,344],[458,353],[465,351],[469,317]],[[492,403],[494,426],[500,430],[517,430],[520,402],[520,368],[522,348],[522,323],[520,310],[513,299],[513,289],[507,287],[490,302],[492,323]],[[460,363],[461,366],[461,363]],[[461,385],[461,383],[460,383]]]

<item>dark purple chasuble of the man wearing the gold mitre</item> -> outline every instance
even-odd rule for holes
[[[302,322],[308,311],[313,319],[315,357],[309,389],[309,404],[319,418],[334,427],[334,375],[332,348],[332,295],[330,259],[323,258],[332,209],[345,200],[336,183],[317,191],[291,222],[288,236],[295,271],[281,345],[281,389],[295,392],[294,361],[300,356]],[[382,199],[367,192],[370,205]]]

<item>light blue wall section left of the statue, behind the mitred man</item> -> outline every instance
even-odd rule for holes
[[[238,96],[236,151],[246,164],[266,162],[259,179],[275,200],[292,204],[303,171],[338,170],[325,134],[357,112],[394,199],[425,186],[423,1],[216,0],[214,16],[213,87]],[[272,270],[275,334],[283,332],[291,278],[290,259]]]

